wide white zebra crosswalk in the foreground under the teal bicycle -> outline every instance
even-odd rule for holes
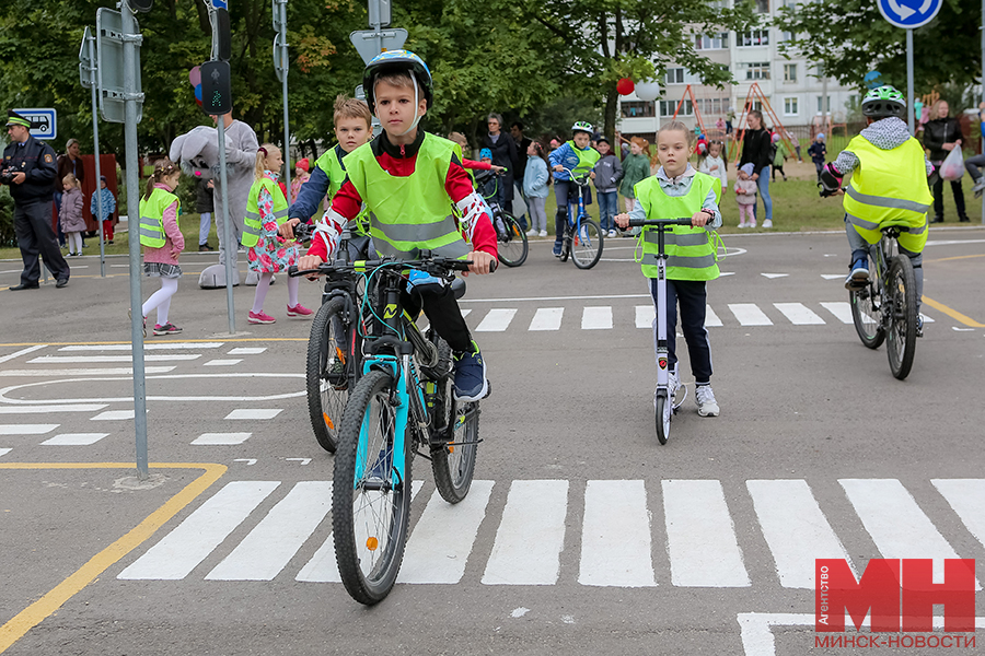
[[[981,504],[985,479],[935,479],[931,483],[985,546]],[[228,483],[118,578],[182,579],[222,549],[225,555],[204,578],[293,576],[299,582],[338,583],[334,538],[325,528],[332,482],[302,481],[285,491],[279,485],[279,481]],[[412,499],[424,485],[425,481],[414,481]],[[583,489],[567,480],[517,480],[508,487],[478,480],[459,504],[445,503],[437,491],[422,511],[422,502],[414,504],[397,581],[453,585],[472,571],[482,572],[483,585],[501,586],[577,582],[592,587],[652,587],[670,582],[676,587],[812,589],[819,558],[845,559],[859,574],[861,563],[853,563],[843,538],[850,537],[857,549],[859,540],[866,540],[859,537],[861,530],[878,553],[857,558],[930,558],[938,577],[942,559],[961,558],[899,480],[844,479],[825,485],[828,495],[815,496],[802,479],[749,480],[744,490],[752,501],[749,511],[740,509],[749,506],[735,500],[742,491],[730,489],[727,496],[718,480],[663,480],[660,485],[642,480],[589,480]],[[841,515],[825,509],[818,500],[830,497],[832,490],[847,496],[851,509],[838,506]],[[269,504],[263,517],[254,518],[275,491],[277,502]],[[505,502],[496,500],[494,492]],[[652,507],[651,495],[661,497],[659,511]],[[939,501],[930,500],[927,507]],[[570,503],[583,504],[580,527],[570,519],[579,516]],[[500,506],[501,511],[490,511]],[[653,517],[662,519],[653,522]],[[245,537],[228,543],[234,531],[242,535],[240,527],[251,522],[255,526]],[[495,538],[483,561],[476,557],[487,553],[478,535],[489,522],[496,523]],[[763,540],[750,537],[752,525]],[[743,530],[737,531],[737,526]],[[491,529],[485,532],[494,535]],[[320,548],[300,571],[291,572],[291,560],[315,536],[322,540]],[[572,541],[578,554],[575,566],[561,559]],[[764,577],[762,561],[767,558],[775,574]],[[748,569],[750,559],[756,567]],[[750,572],[760,572],[755,581]]]

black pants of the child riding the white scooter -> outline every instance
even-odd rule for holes
[[[650,295],[653,306],[657,305],[657,279],[650,279]],[[687,356],[691,359],[691,373],[697,384],[711,382],[711,342],[708,329],[705,328],[705,313],[708,294],[704,280],[668,280],[667,281],[667,355],[669,371],[676,371],[676,335],[677,304],[681,304],[681,329],[687,342]],[[657,343],[657,330],[653,329],[653,343]]]

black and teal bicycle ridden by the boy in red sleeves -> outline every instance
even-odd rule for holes
[[[453,394],[452,353],[433,328],[421,331],[401,302],[418,269],[465,293],[455,271],[471,262],[440,257],[356,262],[373,290],[373,333],[364,336],[362,376],[349,395],[338,434],[332,526],[338,571],[357,601],[386,597],[404,559],[415,455],[431,460],[442,499],[457,503],[472,485],[479,405]],[[495,262],[494,262],[495,263]]]

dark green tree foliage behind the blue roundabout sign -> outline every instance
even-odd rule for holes
[[[819,0],[786,7],[775,24],[795,35],[781,44],[780,51],[815,62],[821,74],[864,89],[866,73],[878,70],[885,83],[905,92],[906,32],[890,25],[872,0]],[[936,19],[915,30],[916,89],[973,83],[981,74],[982,62],[973,55],[981,24],[978,0],[946,0]]]

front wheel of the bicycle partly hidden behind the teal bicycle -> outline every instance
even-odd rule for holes
[[[308,339],[305,384],[308,414],[317,443],[329,454],[338,445],[338,429],[355,380],[358,335],[343,318],[345,302],[333,298],[322,305]],[[354,339],[355,338],[355,339]]]

